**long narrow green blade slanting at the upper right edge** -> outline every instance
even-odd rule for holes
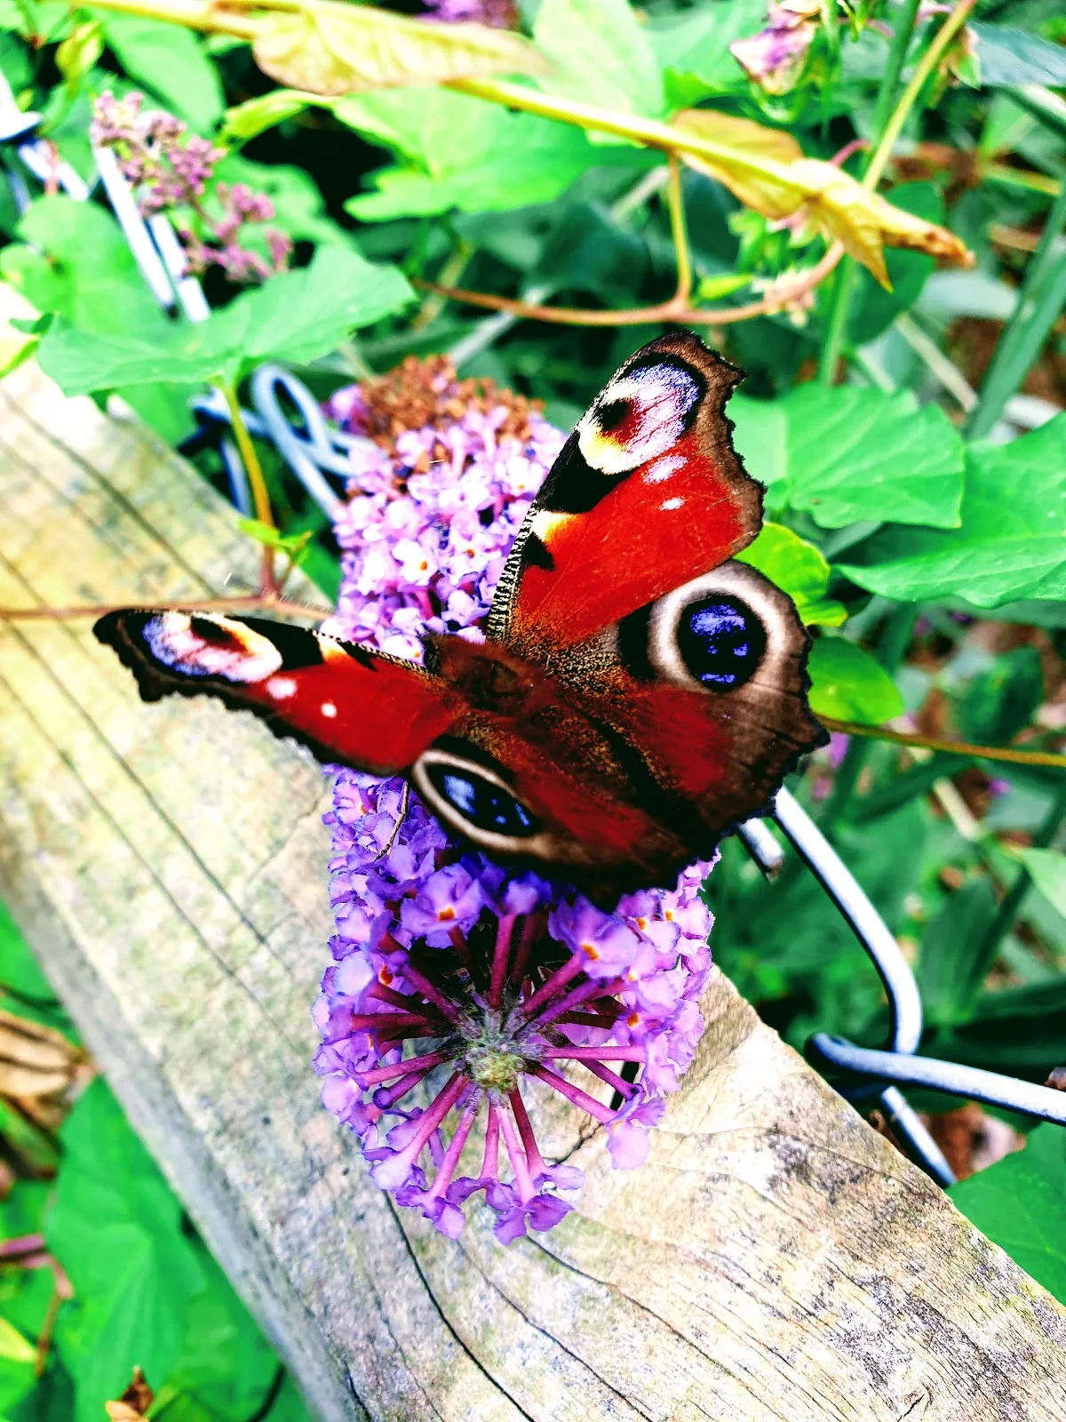
[[[1066,300],[1066,183],[1052,203],[1040,240],[1026,266],[1018,304],[999,337],[981,381],[976,407],[967,419],[968,439],[982,439],[1025,380]]]

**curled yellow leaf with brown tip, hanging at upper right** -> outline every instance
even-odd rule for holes
[[[790,134],[709,108],[684,109],[672,127],[708,145],[706,152],[681,155],[691,168],[716,178],[770,222],[837,239],[884,287],[885,243],[959,266],[972,262],[954,232],[893,206],[843,168],[804,158]]]

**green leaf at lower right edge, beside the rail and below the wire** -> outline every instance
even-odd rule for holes
[[[948,1192],[967,1219],[1066,1304],[1066,1130],[1046,1123]]]

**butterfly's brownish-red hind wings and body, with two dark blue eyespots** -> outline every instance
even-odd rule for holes
[[[462,684],[462,663],[490,644],[455,643],[438,646]],[[412,779],[485,853],[610,907],[708,859],[824,742],[806,657],[792,600],[729,560],[560,648],[551,673],[516,660],[529,678],[522,711],[486,714],[470,697]]]

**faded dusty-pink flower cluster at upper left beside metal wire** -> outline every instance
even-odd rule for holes
[[[178,237],[188,272],[200,276],[220,267],[230,282],[266,282],[284,272],[293,243],[283,232],[263,233],[267,256],[240,245],[247,223],[270,222],[274,205],[246,183],[209,183],[215,165],[226,156],[209,139],[189,134],[186,125],[162,109],[145,109],[142,94],[117,100],[108,90],[92,105],[90,138],[95,148],[112,148],[119,171],[136,191],[145,218],[158,212],[181,215]],[[212,216],[206,203],[220,208]]]

